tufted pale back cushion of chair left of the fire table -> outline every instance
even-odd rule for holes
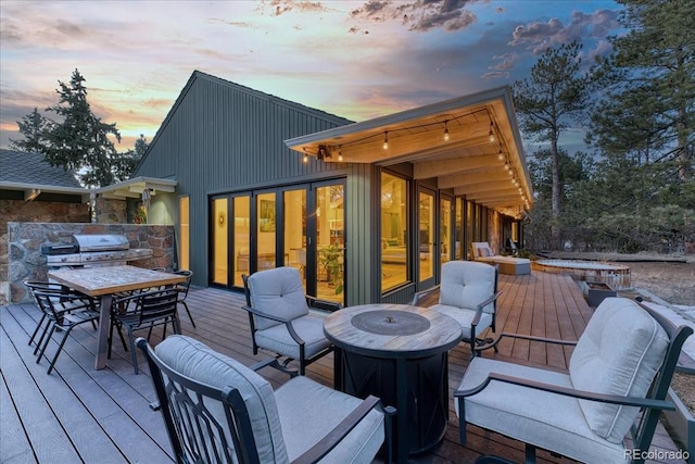
[[[294,267],[260,271],[248,279],[251,305],[257,312],[293,319],[308,314],[302,278]],[[255,317],[258,329],[281,324],[265,317]]]

